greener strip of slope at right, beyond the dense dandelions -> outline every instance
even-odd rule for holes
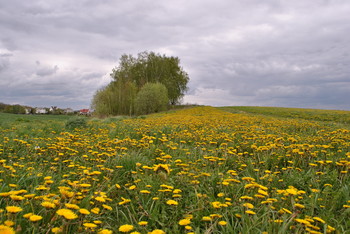
[[[312,121],[328,121],[347,124],[350,126],[350,111],[257,106],[229,106],[221,107],[220,109],[233,113],[245,112],[275,117],[298,118]]]

